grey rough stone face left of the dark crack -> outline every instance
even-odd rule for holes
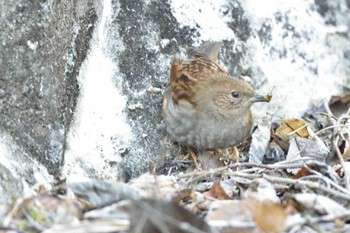
[[[17,163],[15,179],[33,184],[38,164],[60,175],[96,12],[92,1],[7,1],[0,16],[1,156]],[[14,183],[1,185],[10,192]]]

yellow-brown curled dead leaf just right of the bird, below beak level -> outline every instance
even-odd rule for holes
[[[282,125],[276,130],[276,135],[284,140],[298,135],[302,138],[308,138],[309,132],[307,130],[307,124],[302,119],[284,119]]]

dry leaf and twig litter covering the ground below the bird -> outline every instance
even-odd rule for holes
[[[128,183],[39,185],[0,206],[0,232],[350,232],[349,100],[198,153],[202,170],[173,160]]]

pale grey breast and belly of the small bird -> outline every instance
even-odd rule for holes
[[[249,136],[252,127],[250,111],[239,117],[197,114],[190,105],[166,107],[167,131],[180,144],[198,149],[227,148],[238,145]]]

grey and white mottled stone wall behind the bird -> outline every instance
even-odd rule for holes
[[[107,5],[111,8],[108,19],[104,16]],[[300,116],[311,104],[341,94],[350,85],[349,15],[349,1],[345,0],[3,3],[0,169],[4,178],[0,192],[6,190],[8,195],[1,201],[8,201],[11,192],[20,193],[28,184],[62,178],[62,166],[68,159],[76,163],[66,174],[82,169],[88,177],[128,180],[146,171],[150,162],[158,167],[178,154],[179,147],[164,130],[162,90],[168,83],[172,58],[185,56],[188,47],[202,40],[224,40],[219,63],[232,74],[249,76],[246,78],[259,91],[276,86],[271,103],[255,109],[257,120],[266,111],[282,117]],[[100,28],[103,20],[108,25]],[[99,30],[107,31],[101,34]],[[83,100],[87,95],[97,99],[104,92],[104,86],[96,86],[91,93],[82,90],[94,40],[99,40],[101,53],[108,54],[115,66],[112,85],[126,101],[125,107],[110,105],[119,106],[112,114],[125,117],[131,130],[125,145],[125,140],[117,138],[124,132],[115,125],[119,123],[108,121],[114,118],[105,119],[105,125],[115,130],[108,135],[93,121],[92,125],[79,124],[82,105],[89,104]],[[94,49],[99,46],[94,44]],[[105,75],[103,70],[96,73],[97,83],[101,75]],[[109,106],[113,101],[107,98],[98,105]],[[104,112],[99,114],[103,117]],[[75,141],[70,140],[80,132],[79,125],[105,137],[105,144],[87,140],[96,148],[85,161],[83,153],[66,153],[74,146]],[[110,150],[115,159],[106,155]],[[102,161],[99,166],[97,159]]]

